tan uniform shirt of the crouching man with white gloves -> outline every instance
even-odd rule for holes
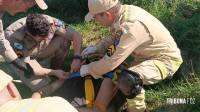
[[[173,59],[182,63],[180,50],[169,31],[139,7],[123,5],[110,30],[112,36],[96,45],[101,52],[107,50],[107,54],[88,65],[89,73],[95,78],[115,69],[129,55],[135,58],[134,62]],[[115,40],[119,43],[113,46]]]

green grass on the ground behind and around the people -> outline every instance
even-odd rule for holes
[[[182,78],[178,81],[165,80],[148,87],[146,90],[147,109],[152,112],[199,112],[200,111],[200,2],[199,0],[120,0],[125,4],[140,6],[156,16],[171,32],[184,58]],[[48,10],[37,6],[27,13],[16,16],[5,14],[4,28],[30,13],[44,13],[70,24],[83,36],[83,47],[94,45],[109,34],[108,28],[98,23],[84,22],[87,14],[87,0],[48,1]],[[65,61],[64,70],[70,69],[72,53]],[[129,59],[128,61],[130,61]],[[1,69],[11,74],[6,62],[1,60]],[[24,98],[30,97],[30,90],[23,84],[17,84]],[[194,98],[195,104],[167,104],[167,98]]]

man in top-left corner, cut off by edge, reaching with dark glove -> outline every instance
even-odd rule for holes
[[[41,9],[47,9],[47,5],[43,0],[0,0],[0,54],[4,59],[21,69],[26,76],[33,74],[33,70],[28,63],[21,61],[9,42],[4,37],[2,16],[4,11],[11,15],[18,12],[26,12],[29,8],[37,4]]]

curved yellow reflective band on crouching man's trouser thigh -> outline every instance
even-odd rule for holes
[[[168,75],[167,68],[165,67],[165,64],[159,60],[153,60],[156,67],[160,70],[162,79],[165,79]]]

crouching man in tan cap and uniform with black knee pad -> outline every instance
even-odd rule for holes
[[[142,85],[155,84],[171,78],[182,63],[180,50],[162,23],[145,10],[122,5],[118,0],[88,0],[86,21],[110,27],[111,35],[96,46],[87,47],[82,55],[107,52],[99,61],[82,65],[81,76],[99,78],[114,70],[128,56],[134,61],[118,76],[119,89],[127,96],[127,110],[145,110],[145,90]]]

